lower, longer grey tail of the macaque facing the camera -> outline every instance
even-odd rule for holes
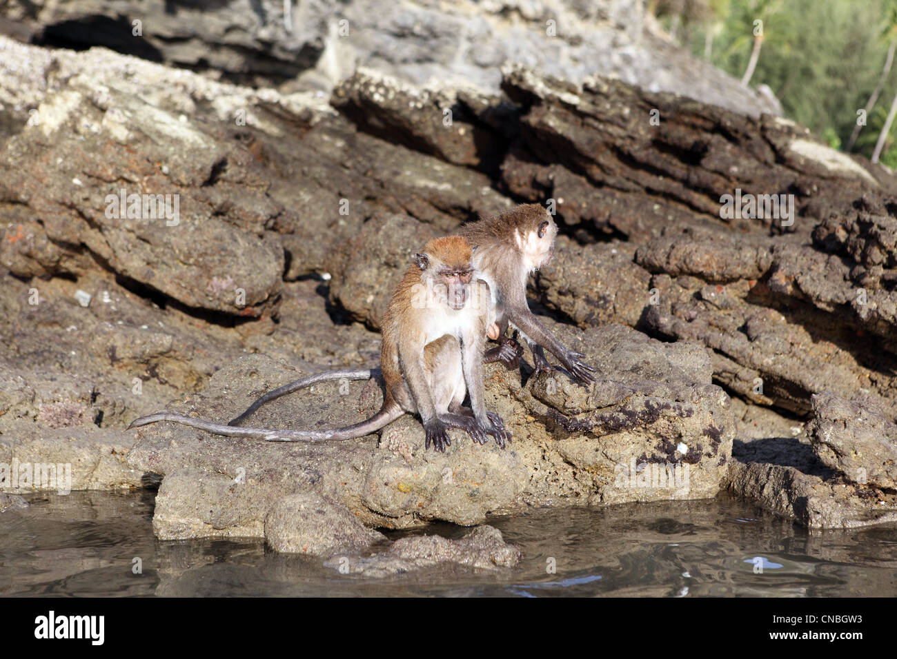
[[[135,419],[127,429],[145,426],[147,423],[155,423],[156,421],[174,421],[175,423],[183,423],[186,426],[205,430],[213,433],[213,435],[223,435],[224,437],[265,439],[269,442],[325,442],[370,435],[370,433],[383,428],[388,423],[396,421],[403,413],[401,407],[396,403],[391,403],[384,405],[379,412],[367,421],[361,421],[361,423],[346,426],[345,428],[332,430],[274,430],[268,428],[235,428],[233,426],[225,426],[222,423],[214,423],[213,421],[194,419],[183,414],[157,412]]]

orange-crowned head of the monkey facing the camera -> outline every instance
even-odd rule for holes
[[[432,285],[437,298],[456,311],[464,308],[474,280],[474,249],[467,238],[433,238],[414,255],[421,281]]]

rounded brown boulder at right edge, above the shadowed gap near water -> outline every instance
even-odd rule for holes
[[[849,481],[897,490],[897,426],[874,403],[813,396],[810,439],[824,464]]]

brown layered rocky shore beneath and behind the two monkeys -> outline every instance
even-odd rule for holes
[[[374,528],[534,506],[728,488],[814,528],[897,516],[895,180],[801,126],[519,67],[501,91],[361,70],[328,100],[2,37],[0,106],[0,462],[67,464],[71,489],[161,479],[161,538],[265,537],[373,573],[431,564],[415,552],[513,564],[486,531],[361,554]],[[784,205],[748,217],[724,195]],[[519,202],[553,205],[530,298],[597,382],[489,367],[506,449],[424,451],[410,417],[325,446],[125,430],[376,365],[414,249]],[[351,423],[380,395],[318,386],[254,421]],[[36,473],[17,491],[59,489]]]

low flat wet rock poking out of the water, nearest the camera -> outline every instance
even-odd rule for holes
[[[393,542],[388,551],[367,558],[334,556],[325,565],[337,568],[343,574],[387,577],[446,566],[485,570],[514,568],[521,558],[517,545],[504,542],[498,529],[482,525],[460,540],[448,540],[439,535],[409,536]]]

